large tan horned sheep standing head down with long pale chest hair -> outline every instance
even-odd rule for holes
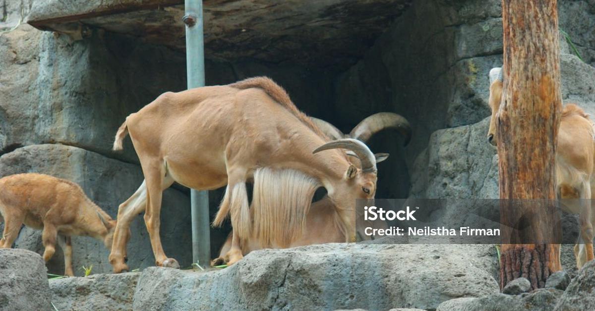
[[[374,154],[359,140],[329,141],[266,77],[225,86],[164,93],[129,115],[118,129],[114,149],[126,134],[134,145],[145,182],[118,209],[109,262],[114,272],[128,269],[123,231],[143,210],[158,266],[179,267],[165,256],[159,238],[162,191],[177,181],[197,190],[227,185],[214,224],[231,215],[233,242],[228,264],[242,259],[240,238],[255,234],[263,245],[290,244],[303,230],[318,187],[324,187],[355,240],[355,219],[347,211],[356,199],[374,197]],[[357,168],[345,149],[361,162]],[[252,212],[246,181],[253,181]],[[252,213],[252,215],[250,215]]]

